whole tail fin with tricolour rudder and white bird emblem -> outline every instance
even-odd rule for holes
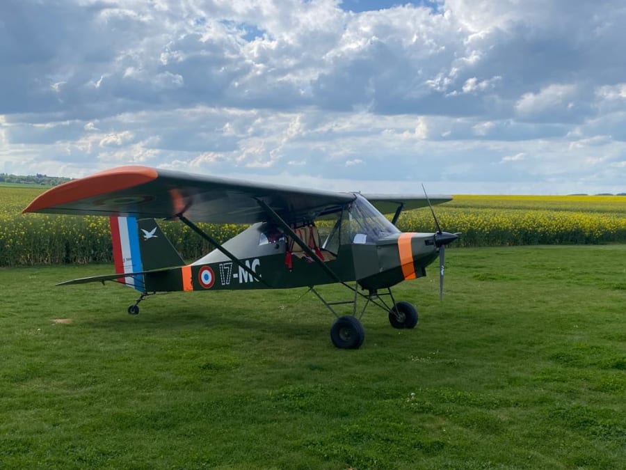
[[[185,264],[154,219],[110,217],[109,222],[116,273],[130,274]],[[141,292],[146,290],[142,274],[121,277],[118,281]]]

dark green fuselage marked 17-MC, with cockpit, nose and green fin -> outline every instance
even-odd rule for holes
[[[333,218],[334,224],[329,220]],[[139,241],[143,265],[172,266],[143,274],[145,292],[296,288],[349,281],[375,291],[425,276],[440,246],[456,239],[447,233],[401,233],[360,194],[321,217],[322,238],[312,221],[297,228],[280,219],[257,222],[184,266],[154,220],[138,224],[141,232],[151,235]]]

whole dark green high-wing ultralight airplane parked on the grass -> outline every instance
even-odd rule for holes
[[[141,295],[128,308],[132,315],[157,292],[308,287],[336,317],[332,343],[355,349],[364,340],[359,318],[370,303],[388,313],[392,327],[415,327],[415,306],[396,302],[391,287],[425,276],[438,256],[442,294],[445,246],[459,234],[442,232],[432,206],[435,233],[401,233],[394,224],[402,210],[450,200],[428,198],[426,191],[365,195],[121,166],[49,189],[24,212],[110,217],[115,274],[58,285],[116,281],[135,288]],[[392,221],[381,212],[393,213]],[[215,249],[188,264],[155,219],[182,221]],[[220,243],[198,222],[250,226]],[[315,286],[328,283],[344,285],[351,299],[323,299]],[[365,301],[359,318],[358,299]],[[352,304],[353,314],[339,316],[341,304]]]

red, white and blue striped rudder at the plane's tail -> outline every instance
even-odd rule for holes
[[[139,251],[139,233],[135,217],[110,217],[111,242],[113,242],[113,263],[115,272],[129,274],[143,271],[141,251]],[[119,281],[143,291],[143,276],[120,277]]]

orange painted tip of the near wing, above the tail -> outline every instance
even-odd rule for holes
[[[157,170],[149,166],[119,166],[118,168],[101,171],[48,189],[45,193],[35,198],[22,213],[37,212],[38,210],[80,201],[81,199],[102,196],[102,194],[109,194],[114,191],[122,191],[123,189],[129,189],[156,180],[158,177],[159,173]]]

